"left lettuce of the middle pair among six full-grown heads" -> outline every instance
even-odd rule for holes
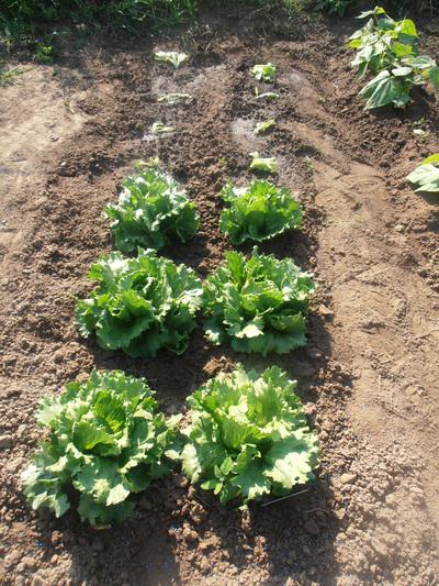
[[[132,357],[154,357],[164,347],[185,351],[202,301],[202,284],[191,268],[139,248],[136,258],[102,256],[89,278],[98,286],[77,303],[81,335],[94,333],[103,349]]]

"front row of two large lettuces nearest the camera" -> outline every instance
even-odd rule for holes
[[[42,401],[37,419],[50,436],[23,474],[24,493],[57,517],[75,502],[92,526],[124,520],[132,495],[176,467],[222,504],[288,495],[318,465],[294,388],[275,366],[259,375],[237,365],[188,398],[181,423],[158,412],[144,379],[94,372]]]

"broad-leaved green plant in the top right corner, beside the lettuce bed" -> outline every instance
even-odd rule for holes
[[[439,90],[439,67],[435,59],[419,55],[418,34],[409,19],[394,21],[381,7],[363,12],[367,24],[356,31],[348,46],[357,49],[352,67],[358,67],[360,79],[368,73],[376,74],[360,96],[365,110],[393,104],[404,108],[415,86],[431,81]]]

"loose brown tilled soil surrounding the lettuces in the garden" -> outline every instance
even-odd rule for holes
[[[423,48],[436,58],[438,26],[424,27]],[[406,112],[364,113],[344,48],[354,27],[259,12],[211,13],[130,41],[86,31],[64,42],[56,65],[0,89],[2,584],[437,584],[438,202],[404,177],[437,151],[439,107],[419,92]],[[153,48],[192,59],[173,71],[151,62]],[[267,60],[279,70],[272,103],[255,98],[249,76]],[[169,91],[194,100],[159,103]],[[277,130],[255,139],[255,123],[269,118]],[[426,139],[413,134],[420,118]],[[156,120],[177,132],[151,137]],[[217,230],[218,191],[227,178],[249,179],[255,150],[278,157],[279,184],[305,208],[303,234],[261,248],[318,278],[307,346],[262,361],[211,347],[200,329],[183,356],[133,361],[81,340],[75,296],[111,250],[101,210],[132,163],[158,155],[196,200],[199,235],[167,254],[205,276],[230,247]],[[106,531],[74,512],[54,520],[30,510],[20,473],[37,444],[43,392],[116,367],[147,377],[172,413],[236,360],[277,363],[299,379],[323,451],[307,491],[241,512],[175,475]]]

